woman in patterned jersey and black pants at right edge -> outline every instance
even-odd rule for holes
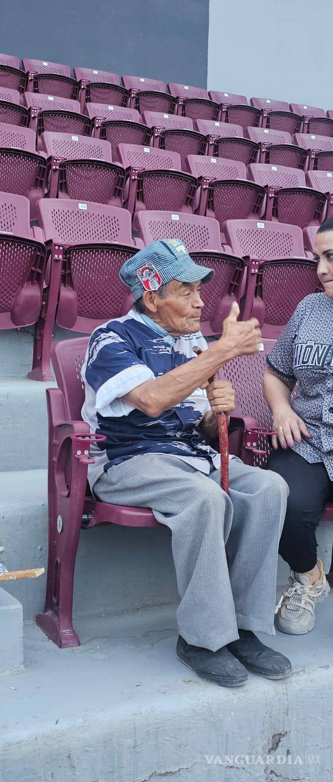
[[[316,527],[333,500],[333,217],[317,231],[314,257],[324,292],[296,307],[263,378],[276,431],[267,466],[289,486],[279,553],[292,573],[278,604],[278,628],[295,635],[312,630],[316,604],[329,592]]]

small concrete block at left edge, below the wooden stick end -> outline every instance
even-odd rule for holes
[[[0,676],[23,671],[23,610],[0,588]]]

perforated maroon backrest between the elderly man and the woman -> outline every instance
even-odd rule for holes
[[[266,357],[273,350],[275,339],[262,339],[263,350],[252,356],[239,356],[219,371],[221,379],[229,380],[235,389],[236,407],[233,415],[256,418],[258,426],[270,429],[272,418],[267,401],[263,396],[263,373]]]

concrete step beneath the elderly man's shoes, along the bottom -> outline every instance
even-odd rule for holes
[[[288,680],[235,690],[177,660],[174,608],[84,619],[66,650],[27,626],[26,672],[0,680],[2,782],[330,780],[332,608],[306,636],[260,635]]]

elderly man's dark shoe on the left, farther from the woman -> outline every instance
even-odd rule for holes
[[[187,644],[184,638],[178,636],[176,655],[188,668],[198,674],[201,679],[220,687],[239,687],[245,684],[248,677],[244,665],[223,646],[217,651],[210,651],[200,646]]]

